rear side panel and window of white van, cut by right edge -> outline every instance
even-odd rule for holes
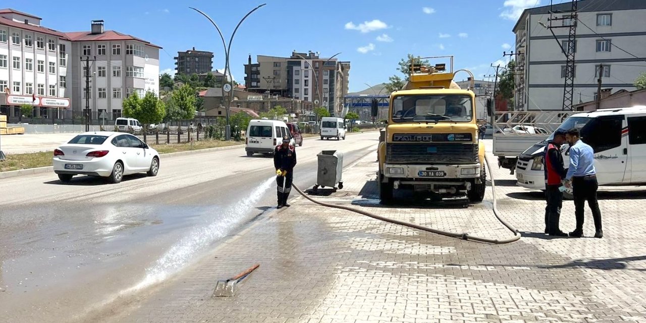
[[[646,116],[628,117],[630,183],[646,182]],[[625,135],[624,135],[625,136]]]

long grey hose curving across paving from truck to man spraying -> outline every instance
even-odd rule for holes
[[[491,176],[492,176],[492,180],[491,180],[491,189],[492,189],[492,196],[493,196],[493,204],[492,204],[493,207],[492,207],[492,209],[494,211],[494,215],[495,215],[495,217],[498,219],[498,221],[501,224],[505,225],[505,227],[507,227],[507,229],[509,229],[509,231],[512,231],[512,233],[514,233],[514,236],[512,238],[508,238],[508,239],[505,239],[505,240],[488,239],[488,238],[481,238],[479,236],[471,236],[471,235],[469,235],[467,233],[452,233],[452,232],[448,232],[448,231],[442,231],[442,230],[438,230],[438,229],[433,229],[433,228],[430,228],[430,227],[422,227],[422,225],[417,225],[417,224],[412,224],[412,223],[408,223],[408,222],[404,222],[404,221],[394,220],[394,219],[391,219],[391,218],[384,218],[383,216],[379,216],[377,214],[373,214],[373,213],[370,213],[368,211],[362,211],[360,209],[355,209],[353,207],[347,207],[347,206],[344,206],[344,205],[335,205],[335,204],[320,202],[320,201],[314,200],[313,198],[307,196],[307,194],[305,194],[303,191],[301,191],[296,185],[292,184],[292,186],[296,189],[296,191],[298,191],[298,193],[300,193],[302,196],[307,198],[307,200],[309,200],[310,202],[313,202],[313,203],[316,203],[318,205],[322,205],[322,206],[325,206],[325,207],[333,207],[335,209],[342,209],[342,210],[346,210],[346,211],[351,211],[351,212],[363,214],[365,216],[370,216],[371,218],[375,218],[377,220],[390,222],[392,224],[404,225],[405,227],[411,227],[413,229],[418,229],[418,230],[421,230],[421,231],[427,231],[427,232],[435,233],[435,234],[441,234],[443,236],[449,236],[451,238],[459,238],[459,239],[462,239],[462,240],[483,242],[483,243],[486,243],[486,244],[509,244],[511,242],[515,242],[515,241],[519,240],[521,238],[521,234],[518,232],[518,230],[513,225],[508,224],[502,218],[502,216],[499,214],[499,211],[498,211],[497,206],[496,206],[496,200],[495,200],[495,182],[494,182],[493,173],[492,173],[491,167],[489,165],[489,160],[486,158],[486,156],[485,156],[485,160],[486,160],[486,167],[487,167],[487,169],[489,171],[489,174],[491,174]]]

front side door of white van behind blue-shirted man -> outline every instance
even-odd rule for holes
[[[601,116],[581,129],[581,140],[594,149],[599,183],[622,183],[628,161],[628,140],[622,134],[624,116]],[[628,179],[628,178],[627,178]]]

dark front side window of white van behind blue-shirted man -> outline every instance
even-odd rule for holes
[[[623,116],[604,116],[591,120],[581,129],[581,140],[594,152],[607,151],[621,145]]]

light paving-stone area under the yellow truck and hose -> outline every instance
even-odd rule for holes
[[[490,160],[495,160],[490,156]],[[344,189],[322,198],[436,229],[506,238],[479,205],[375,202],[375,154],[344,171]],[[519,242],[446,238],[297,198],[251,225],[120,322],[646,322],[645,191],[599,193],[603,239],[542,233],[542,193],[494,170],[505,218]],[[574,228],[565,202],[561,229]],[[585,233],[594,233],[591,216]],[[234,297],[212,298],[216,281],[252,264]]]

